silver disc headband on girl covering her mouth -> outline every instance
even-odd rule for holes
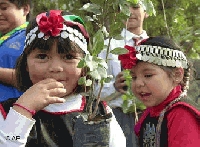
[[[49,39],[50,36],[45,36],[45,34],[41,31],[36,34],[36,31],[38,31],[38,27],[35,27],[26,35],[24,48],[30,45],[36,37],[43,38],[44,40]],[[60,36],[64,39],[69,38],[71,41],[75,42],[86,54],[89,54],[89,51],[87,50],[87,41],[82,33],[80,33],[78,30],[63,24],[62,31],[57,36]]]

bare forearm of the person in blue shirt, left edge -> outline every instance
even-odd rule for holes
[[[0,83],[15,86],[15,70],[11,68],[0,68]]]

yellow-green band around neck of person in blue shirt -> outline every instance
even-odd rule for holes
[[[7,34],[1,36],[1,38],[0,38],[0,45],[3,44],[4,41],[6,41],[8,38],[10,38],[10,36],[12,36],[12,35],[13,35],[14,33],[16,33],[17,31],[26,28],[27,25],[28,25],[28,22],[26,22],[26,23],[22,24],[21,26],[15,28],[14,30],[8,32]]]

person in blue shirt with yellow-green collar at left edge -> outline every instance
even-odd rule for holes
[[[30,0],[0,0],[0,101],[19,97],[15,62],[22,53]]]

